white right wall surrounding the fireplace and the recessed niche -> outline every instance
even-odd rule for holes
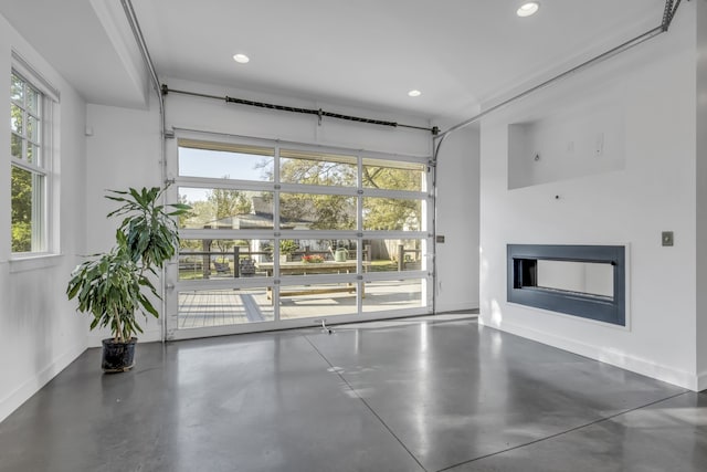
[[[684,2],[667,34],[483,120],[484,324],[697,388],[695,40],[695,2]],[[621,109],[612,112],[622,123],[605,123],[623,127],[623,143],[616,145],[624,154],[622,167],[508,188],[509,124],[538,117],[552,123],[568,109],[601,117],[600,104],[611,96],[622,97]],[[591,143],[595,129],[590,128],[573,138],[567,127],[558,127],[556,137],[544,136],[561,148],[570,138]],[[664,230],[675,232],[675,247],[661,247]],[[508,243],[629,244],[629,326],[508,304]]]

